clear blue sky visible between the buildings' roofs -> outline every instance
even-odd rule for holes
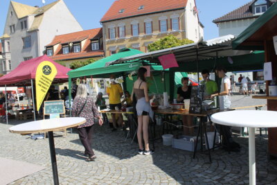
[[[15,0],[29,6],[42,6],[42,0]],[[54,0],[45,0],[46,4]],[[74,17],[79,21],[84,30],[101,27],[99,21],[109,6],[115,0],[64,0]],[[131,0],[130,0],[131,1]],[[151,1],[151,0],[148,0]],[[170,1],[170,0],[169,0]],[[213,19],[221,17],[251,0],[196,0],[199,10],[199,19],[204,24],[204,39],[212,39],[218,36],[217,26],[212,22]],[[1,0],[0,3],[0,35],[6,23],[6,15],[10,1]]]

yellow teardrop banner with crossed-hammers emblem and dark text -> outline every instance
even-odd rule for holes
[[[46,96],[46,93],[51,86],[55,76],[57,74],[57,69],[52,62],[44,61],[41,62],[37,67],[37,72],[35,74],[35,89],[37,98],[37,110],[42,101]]]

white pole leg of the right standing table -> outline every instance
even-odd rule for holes
[[[255,128],[249,127],[249,184],[256,185]]]

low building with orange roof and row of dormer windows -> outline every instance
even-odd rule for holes
[[[75,61],[99,60],[105,55],[102,28],[56,35],[45,49],[49,58],[62,61],[66,67]]]

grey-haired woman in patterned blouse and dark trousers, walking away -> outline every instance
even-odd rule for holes
[[[94,118],[99,119],[99,125],[103,121],[92,96],[87,96],[87,86],[81,84],[78,86],[76,96],[73,100],[72,116],[86,118],[87,122],[77,127],[80,141],[84,146],[84,155],[88,155],[86,161],[94,161],[96,155],[91,148],[91,139],[93,134]]]

